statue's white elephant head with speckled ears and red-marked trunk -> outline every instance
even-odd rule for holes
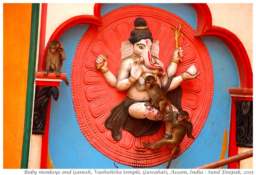
[[[159,59],[159,40],[141,39],[133,45],[129,41],[122,42],[121,60],[130,56],[137,56],[143,58],[145,66],[150,69],[159,69],[160,74],[165,75],[165,67],[157,64],[153,57]],[[153,57],[152,57],[153,56]]]

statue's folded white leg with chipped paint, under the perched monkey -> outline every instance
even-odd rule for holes
[[[148,118],[149,120],[156,120],[155,116],[159,114],[158,109],[152,106],[144,106],[144,104],[145,102],[138,102],[138,103],[132,104],[129,108],[130,116],[134,118]],[[178,111],[178,109],[176,109],[173,106],[173,111]],[[166,112],[167,113],[170,112],[168,107],[166,108]],[[168,118],[168,116],[164,117],[165,120],[166,118]]]

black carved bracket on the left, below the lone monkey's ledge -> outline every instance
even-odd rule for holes
[[[32,134],[43,135],[46,124],[46,114],[49,98],[55,101],[59,98],[59,90],[55,86],[44,86],[40,90],[36,85]]]

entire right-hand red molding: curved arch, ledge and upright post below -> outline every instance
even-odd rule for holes
[[[253,101],[253,73],[248,54],[240,39],[227,29],[212,26],[212,17],[206,4],[191,3],[197,13],[195,36],[214,36],[221,39],[234,56],[240,79],[240,87],[229,89],[231,95],[231,113],[229,130],[228,156],[238,154],[236,146],[236,105],[234,100]],[[228,168],[237,168],[237,163],[231,163]]]

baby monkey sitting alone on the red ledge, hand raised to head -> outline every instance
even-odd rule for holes
[[[45,71],[44,76],[47,76],[50,71],[56,74],[56,77],[61,76],[61,68],[63,60],[66,60],[65,50],[62,48],[63,44],[58,40],[52,40],[50,43],[47,43],[49,48],[46,53],[45,60]],[[69,85],[67,78],[63,79],[66,85]]]

